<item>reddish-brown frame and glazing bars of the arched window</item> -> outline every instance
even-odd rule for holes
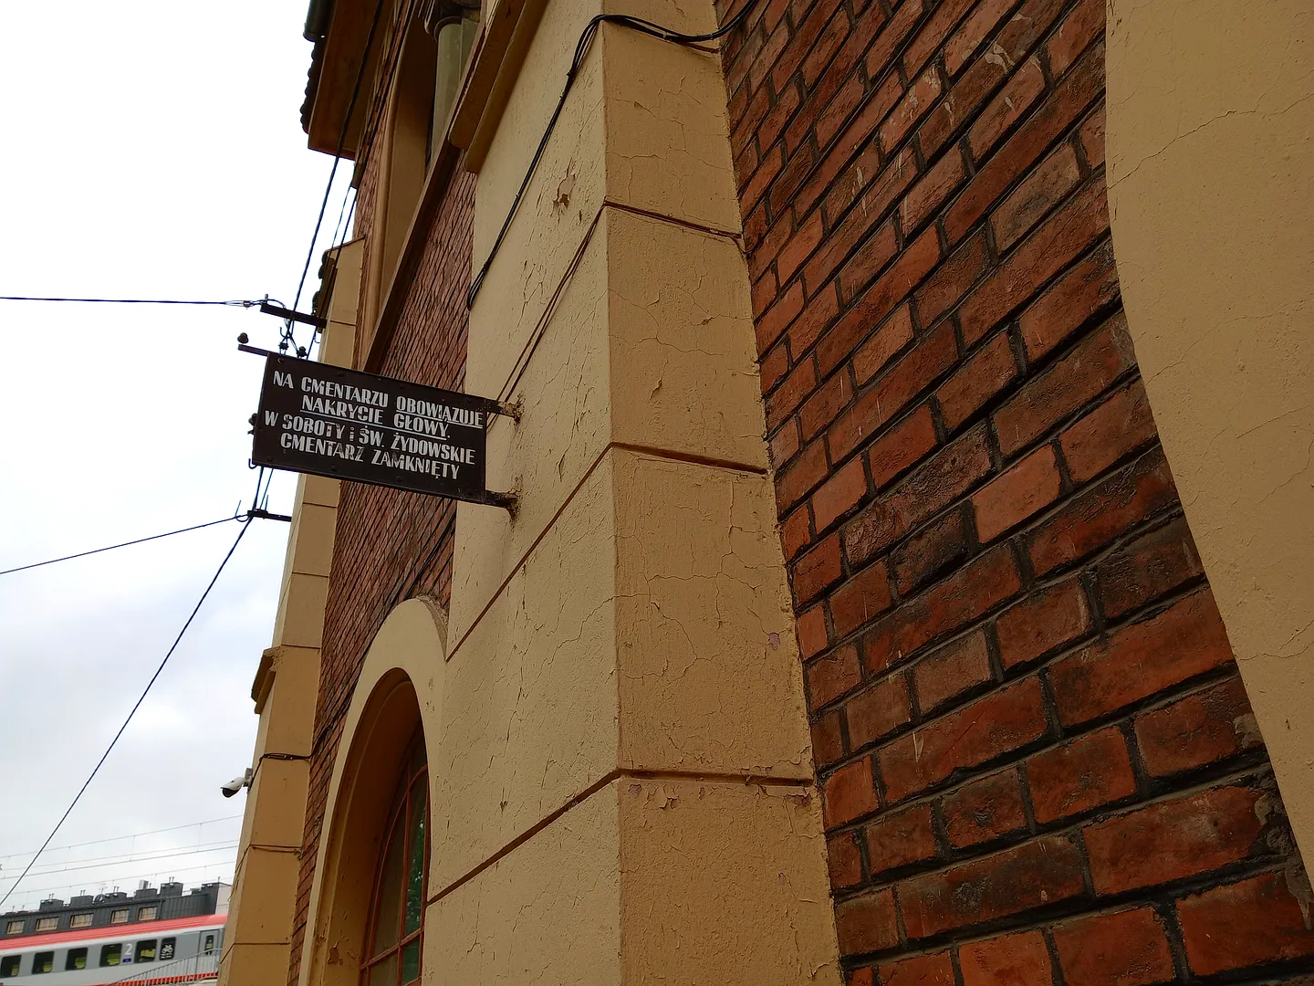
[[[363,949],[364,958],[360,962],[360,983],[361,986],[371,986],[371,972],[388,962],[389,958],[396,957],[396,986],[406,986],[406,982],[420,982],[424,973],[424,911],[427,910],[427,893],[428,893],[428,865],[430,865],[430,845],[432,839],[430,836],[430,803],[428,803],[428,757],[418,760],[420,755],[424,753],[424,734],[423,730],[417,730],[411,741],[406,744],[406,753],[402,757],[402,773],[397,782],[396,793],[393,794],[393,803],[388,811],[388,822],[384,826],[384,840],[378,849],[378,862],[374,865],[374,881],[373,890],[371,891],[369,911],[365,920],[365,948]],[[411,789],[418,781],[423,780],[422,790],[424,794],[424,814],[422,816],[422,827],[424,840],[424,856],[423,866],[420,869],[420,908],[419,908],[419,924],[415,931],[406,933],[406,890],[407,880],[406,873],[409,870],[411,852],[414,849],[413,832],[410,823],[407,822],[411,809]],[[389,849],[393,847],[393,832],[397,831],[398,822],[401,822],[401,835],[402,843],[402,882],[399,887],[401,902],[398,906],[397,920],[397,941],[389,948],[380,952],[374,951],[374,937],[378,933],[378,928],[374,927],[376,919],[378,916],[378,908],[382,904],[382,883],[384,883],[384,869],[388,861]],[[418,944],[419,948],[419,977],[410,981],[402,979],[402,953],[410,944]]]

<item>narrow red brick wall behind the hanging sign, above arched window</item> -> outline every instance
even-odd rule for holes
[[[371,162],[357,202],[357,237],[371,233],[376,187],[376,164]],[[474,176],[457,164],[430,226],[419,273],[406,285],[406,305],[380,368],[382,375],[463,389],[473,217]],[[290,983],[300,975],[328,784],[360,665],[394,606],[418,596],[431,596],[447,607],[455,523],[455,501],[355,482],[342,485],[325,614]]]

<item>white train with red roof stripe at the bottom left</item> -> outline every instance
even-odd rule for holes
[[[217,979],[226,914],[0,940],[0,986],[163,986]]]

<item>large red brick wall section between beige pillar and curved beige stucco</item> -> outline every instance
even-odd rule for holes
[[[1121,309],[1102,0],[757,0],[724,64],[849,981],[1310,969]]]

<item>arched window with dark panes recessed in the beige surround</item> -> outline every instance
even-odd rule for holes
[[[403,760],[369,908],[361,986],[419,982],[428,880],[428,764],[422,734]]]

